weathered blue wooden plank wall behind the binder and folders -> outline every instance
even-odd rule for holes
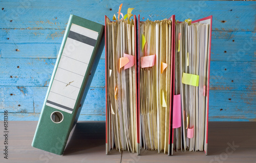
[[[103,24],[121,3],[145,19],[212,15],[209,120],[256,121],[256,2],[156,0],[1,1],[0,120],[38,120],[70,14]],[[79,120],[105,120],[104,91],[102,53]]]

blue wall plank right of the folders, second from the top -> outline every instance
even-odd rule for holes
[[[211,61],[256,61],[255,32],[214,31]]]

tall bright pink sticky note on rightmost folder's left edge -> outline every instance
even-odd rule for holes
[[[173,128],[181,126],[181,102],[180,95],[174,95]]]

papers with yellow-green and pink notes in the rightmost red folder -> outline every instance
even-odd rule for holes
[[[210,20],[210,19],[209,19]],[[210,21],[175,26],[174,149],[206,150]]]

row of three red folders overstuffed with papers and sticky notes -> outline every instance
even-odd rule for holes
[[[106,154],[115,146],[138,155],[141,148],[207,155],[211,20],[140,21],[138,15],[138,36],[132,21],[138,47],[132,41],[129,51],[127,20],[105,17]],[[127,55],[135,57],[134,67],[120,68],[123,58],[129,59],[123,65],[130,62]]]

